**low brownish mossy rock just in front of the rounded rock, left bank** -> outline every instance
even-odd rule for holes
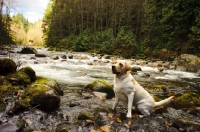
[[[8,76],[8,81],[13,85],[28,85],[31,84],[29,75],[25,72],[17,71]]]

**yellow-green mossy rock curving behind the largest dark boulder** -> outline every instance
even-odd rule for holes
[[[61,88],[60,88],[59,84],[57,83],[57,81],[54,80],[54,79],[45,78],[45,77],[42,77],[42,76],[37,76],[37,79],[34,82],[34,84],[43,84],[43,85],[50,86],[51,88],[54,89],[54,91],[58,95],[63,96],[63,91],[61,90]]]

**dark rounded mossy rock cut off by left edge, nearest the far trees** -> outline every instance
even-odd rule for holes
[[[10,73],[16,72],[17,65],[16,63],[8,58],[0,59],[0,75],[5,76]]]

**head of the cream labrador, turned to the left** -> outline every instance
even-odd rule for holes
[[[130,65],[126,61],[118,60],[112,65],[113,74],[124,74],[130,70]]]

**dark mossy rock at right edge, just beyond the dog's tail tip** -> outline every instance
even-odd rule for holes
[[[194,92],[188,92],[173,101],[174,108],[189,109],[200,106],[200,95]]]

